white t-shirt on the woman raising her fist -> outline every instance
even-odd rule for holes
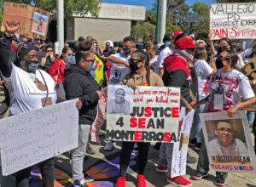
[[[49,95],[53,104],[56,103],[57,94],[55,82],[45,71],[40,71],[47,84]],[[43,77],[39,70],[36,74],[28,73],[20,67],[13,65],[11,76],[3,77],[10,96],[10,112],[12,115],[21,114],[27,111],[37,110],[43,107],[41,99],[46,98],[47,91],[41,91],[34,82],[35,77],[44,84]]]

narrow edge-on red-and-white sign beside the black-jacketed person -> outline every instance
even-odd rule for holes
[[[100,143],[99,139],[99,133],[101,131],[102,124],[105,120],[105,110],[106,110],[106,104],[107,104],[107,98],[104,96],[99,99],[98,106],[97,106],[97,116],[96,120],[91,125],[91,131],[90,131],[90,140],[93,142]]]

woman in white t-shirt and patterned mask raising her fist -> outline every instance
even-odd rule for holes
[[[9,61],[9,51],[12,36],[19,29],[19,24],[7,22],[5,28],[5,36],[0,43],[0,71],[9,90],[10,115],[19,115],[55,104],[55,82],[46,72],[38,70],[36,48],[30,42],[21,42],[17,48],[17,64],[20,67],[15,66]],[[54,186],[54,159],[50,158],[38,165],[43,177],[43,186]],[[15,186],[28,187],[31,169],[32,167],[27,167],[16,173]]]

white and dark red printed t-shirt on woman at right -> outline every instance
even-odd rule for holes
[[[223,90],[223,110],[214,109],[214,94],[217,89]],[[213,73],[208,87],[209,103],[207,111],[227,111],[230,107],[241,102],[241,99],[250,99],[254,97],[253,89],[248,78],[241,72],[233,70],[222,73],[221,70]]]

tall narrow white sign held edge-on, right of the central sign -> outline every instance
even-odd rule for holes
[[[189,133],[193,122],[195,110],[193,109],[187,115],[185,114],[185,110],[186,109],[182,107],[179,116],[179,142],[173,144],[171,166],[172,178],[186,174]]]

